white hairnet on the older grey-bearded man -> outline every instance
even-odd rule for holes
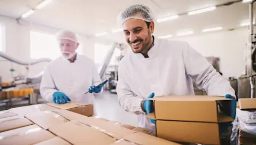
[[[69,30],[58,31],[58,33],[56,34],[56,39],[58,42],[60,41],[60,39],[68,39],[69,41],[79,43],[78,35],[73,31],[69,31]]]

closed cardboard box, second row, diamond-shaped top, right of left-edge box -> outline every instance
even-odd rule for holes
[[[65,117],[57,114],[55,111],[40,111],[35,113],[30,113],[25,115],[25,118],[28,118],[33,123],[48,130],[49,127],[55,126],[61,123],[69,122]]]

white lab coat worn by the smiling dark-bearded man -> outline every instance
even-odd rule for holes
[[[208,61],[187,42],[154,39],[148,52],[126,55],[119,64],[117,93],[120,106],[138,115],[140,127],[155,130],[145,118],[141,101],[154,92],[162,95],[195,95],[192,79],[208,95],[231,94],[235,91]]]

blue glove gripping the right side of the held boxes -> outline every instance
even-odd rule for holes
[[[228,107],[229,107],[229,110],[228,112],[225,112],[224,113],[230,117],[232,117],[233,119],[236,118],[236,99],[234,96],[230,95],[230,94],[227,94],[225,96],[225,98],[229,98],[229,99],[232,99],[230,100],[230,102],[228,103]],[[232,123],[231,122],[228,122],[228,123],[221,123],[220,124],[220,131],[221,132],[224,132],[226,130],[226,128],[228,128],[229,126],[231,126]]]

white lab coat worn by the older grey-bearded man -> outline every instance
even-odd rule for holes
[[[100,82],[95,63],[91,59],[77,54],[75,62],[71,63],[61,56],[45,67],[40,93],[49,102],[52,102],[53,93],[59,91],[71,101],[94,104],[94,94],[84,93],[90,86]],[[96,115],[95,104],[94,114]]]

